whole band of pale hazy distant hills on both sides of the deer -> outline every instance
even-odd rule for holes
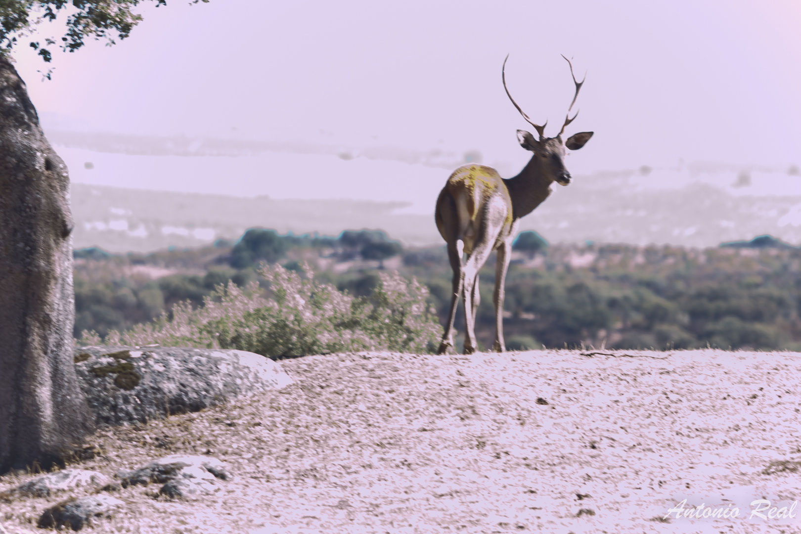
[[[678,176],[678,175],[677,175]],[[716,247],[772,235],[801,243],[801,195],[733,194],[710,183],[649,188],[635,171],[578,176],[521,221],[549,243],[650,243]],[[308,191],[307,191],[308,193]],[[432,199],[433,206],[433,199]],[[280,233],[380,229],[406,245],[442,244],[433,213],[404,202],[242,198],[72,184],[74,247],[155,251],[238,239],[250,227]]]

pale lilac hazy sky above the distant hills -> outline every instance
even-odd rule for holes
[[[570,156],[574,175],[680,159],[801,165],[796,0],[211,0],[142,13],[131,38],[116,46],[93,42],[54,54],[52,81],[40,81],[45,67],[28,50],[17,53],[46,127],[477,150],[508,175],[529,157],[515,138],[528,125],[503,91],[501,62],[511,54],[509,89],[535,121],[548,118],[546,133],[555,135],[573,95],[559,55],[566,54],[579,78],[588,73],[581,113],[566,133],[596,132]],[[74,163],[84,157],[65,158],[73,179],[91,179]],[[313,167],[316,176],[305,177],[294,196],[314,196],[315,180],[328,182],[317,196],[329,196],[332,177],[347,180],[347,173],[325,175],[324,163]],[[434,171],[421,172],[431,173],[425,179],[436,190],[448,171]],[[173,188],[200,191],[215,179],[195,178]],[[264,183],[283,180],[290,193],[276,196],[293,196],[291,180],[266,169],[238,179],[244,194],[248,183],[252,194],[269,194]],[[104,180],[114,185],[114,173]],[[399,180],[378,188],[402,187]]]

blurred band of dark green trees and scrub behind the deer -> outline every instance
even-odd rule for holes
[[[801,348],[801,251],[775,240],[704,250],[548,247],[526,232],[515,249],[506,281],[509,348]],[[380,263],[398,255],[400,274],[427,285],[444,318],[451,291],[445,247],[404,250],[380,231],[333,238],[252,230],[237,243],[187,251],[76,251],[75,335],[124,330],[184,300],[200,306],[217,284],[258,280],[261,261],[295,270],[305,260],[318,263],[324,268],[317,278],[352,295],[369,295]],[[477,335],[484,347],[493,339],[493,261],[494,256],[481,271]],[[148,270],[159,275],[169,269],[182,272],[146,276]],[[462,325],[457,317],[459,330]]]

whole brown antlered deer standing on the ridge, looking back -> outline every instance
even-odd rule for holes
[[[565,58],[565,56],[562,56]],[[520,218],[528,215],[533,209],[548,198],[550,186],[557,182],[563,186],[570,183],[570,173],[565,168],[565,147],[577,151],[590,140],[594,132],[585,131],[570,136],[562,142],[562,133],[566,126],[578,116],[578,111],[570,118],[582,89],[584,80],[576,81],[573,64],[570,75],[576,86],[573,102],[567,110],[562,130],[556,137],[545,137],[545,124],[534,124],[529,116],[521,110],[506,87],[506,56],[501,69],[501,79],[509,100],[517,111],[537,130],[540,139],[524,130],[517,130],[517,140],[521,147],[532,151],[529,163],[517,176],[503,179],[492,167],[468,164],[459,167],[450,175],[445,187],[437,199],[437,228],[448,243],[448,258],[453,268],[453,293],[451,294],[448,326],[442,336],[440,354],[445,354],[453,347],[453,319],[461,292],[465,292],[465,354],[476,351],[476,310],[481,299],[478,291],[478,271],[489,258],[489,253],[497,250],[495,267],[495,342],[493,351],[505,351],[503,339],[503,301],[506,271],[509,268],[509,256],[512,241],[517,234]],[[586,79],[586,78],[585,78]],[[465,255],[465,259],[462,256]]]

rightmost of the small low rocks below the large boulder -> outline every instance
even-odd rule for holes
[[[160,495],[193,499],[219,491],[218,480],[232,480],[226,464],[208,456],[165,456],[134,471],[121,471],[117,477],[123,488],[134,484],[164,484]]]

